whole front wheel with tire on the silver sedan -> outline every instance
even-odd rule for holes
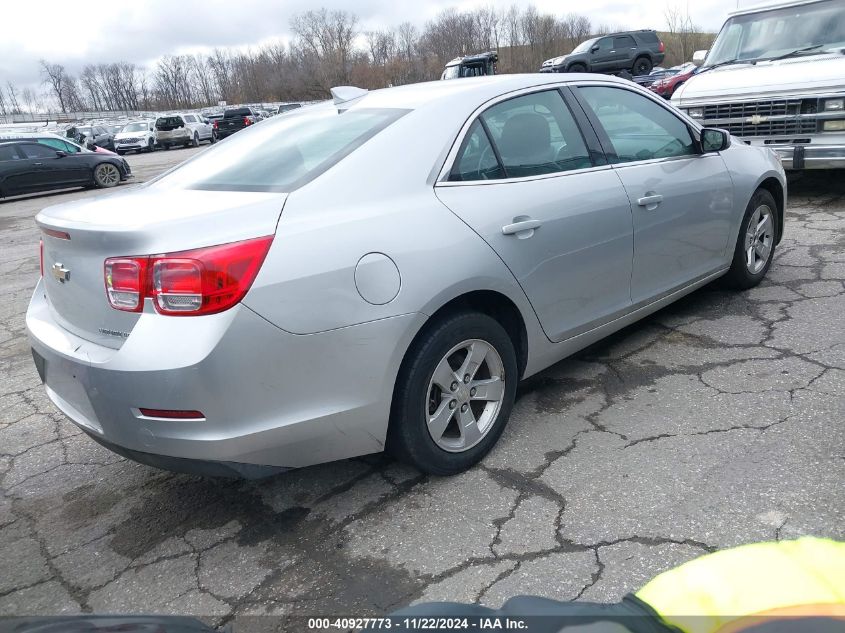
[[[772,265],[777,239],[777,203],[771,193],[758,189],[745,208],[739,227],[727,286],[746,290],[759,284]]]

